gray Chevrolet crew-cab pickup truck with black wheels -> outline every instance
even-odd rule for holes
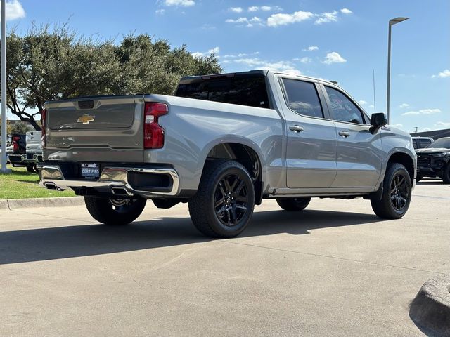
[[[311,197],[370,199],[401,218],[416,180],[411,136],[368,114],[339,86],[269,70],[185,77],[175,95],[46,103],[41,185],[71,189],[105,224],[148,199],[188,202],[195,227],[234,237],[255,204],[302,211]]]

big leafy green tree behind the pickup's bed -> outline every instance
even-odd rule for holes
[[[32,27],[7,38],[8,109],[40,130],[46,100],[79,95],[172,94],[180,77],[222,71],[217,58],[194,58],[186,45],[172,48],[147,34],[120,44],[78,37],[66,25]]]

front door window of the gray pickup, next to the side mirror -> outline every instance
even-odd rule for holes
[[[336,89],[325,86],[326,93],[331,103],[331,112],[337,121],[347,123],[364,124],[364,118],[356,105],[352,103],[343,93]]]

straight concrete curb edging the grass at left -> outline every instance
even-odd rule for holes
[[[59,207],[84,205],[83,197],[34,198],[0,200],[0,209],[24,209],[31,207]]]

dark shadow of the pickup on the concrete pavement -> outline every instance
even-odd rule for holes
[[[325,227],[361,225],[380,221],[374,215],[305,210],[256,212],[240,237],[278,233],[309,234]],[[115,227],[101,224],[13,230],[0,233],[0,265],[80,256],[94,256],[209,242],[190,218],[154,218]]]

